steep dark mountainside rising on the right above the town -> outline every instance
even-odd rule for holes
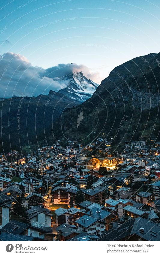
[[[62,114],[55,125],[61,138],[89,143],[98,136],[124,141],[159,137],[160,53],[134,58],[114,68],[92,97]],[[77,127],[79,115],[80,124]],[[125,117],[125,121],[123,120]]]

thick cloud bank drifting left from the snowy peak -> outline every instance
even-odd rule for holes
[[[48,94],[50,90],[58,91],[68,85],[68,80],[63,80],[65,75],[75,71],[82,71],[87,78],[95,74],[84,65],[58,64],[57,66],[43,69],[32,66],[29,60],[13,52],[0,55],[0,97],[12,96],[38,96]]]

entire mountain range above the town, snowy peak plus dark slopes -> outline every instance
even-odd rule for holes
[[[148,136],[160,140],[159,63],[160,53],[150,53],[114,68],[99,86],[75,72],[62,79],[67,86],[58,92],[0,101],[1,151],[2,143],[4,151],[29,150],[58,139],[88,144],[101,136],[113,139],[114,150],[124,150],[125,141],[147,141]]]

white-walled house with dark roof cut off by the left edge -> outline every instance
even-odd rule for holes
[[[5,226],[10,220],[11,203],[14,201],[12,197],[0,193],[0,227]]]

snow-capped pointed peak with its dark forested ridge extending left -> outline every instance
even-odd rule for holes
[[[48,95],[38,97],[12,97],[0,99],[1,133],[0,151],[21,150],[37,144],[51,132],[52,124],[65,108],[72,108],[89,99],[98,84],[88,80],[82,72],[66,75],[62,80],[67,85]],[[54,141],[53,141],[54,143]],[[37,146],[38,147],[38,144]]]

